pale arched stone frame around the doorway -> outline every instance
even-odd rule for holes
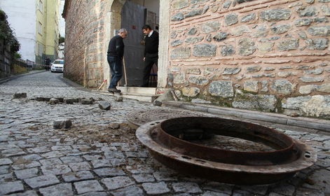
[[[106,2],[104,17],[104,40],[103,40],[103,53],[104,53],[104,80],[107,80],[106,88],[110,83],[110,69],[106,59],[106,52],[110,39],[115,35],[115,30],[121,28],[121,10],[126,0],[109,0]],[[166,87],[167,84],[167,66],[168,66],[168,41],[170,31],[170,1],[160,0],[160,48],[158,59],[158,87]]]

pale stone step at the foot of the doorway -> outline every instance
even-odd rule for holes
[[[118,87],[117,87],[118,88]],[[120,88],[118,88],[120,89]],[[118,96],[118,93],[112,94],[107,90],[92,90],[93,92],[97,92],[99,94],[108,94],[110,96]],[[146,94],[146,93],[135,93],[135,92],[122,92],[121,96],[127,99],[135,99],[139,102],[153,102],[153,100],[157,99],[159,95],[156,94]]]

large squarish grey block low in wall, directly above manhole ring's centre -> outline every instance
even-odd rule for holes
[[[234,89],[231,81],[216,80],[209,85],[209,94],[216,97],[233,97]]]

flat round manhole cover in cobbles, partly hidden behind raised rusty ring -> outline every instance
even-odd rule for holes
[[[179,118],[185,116],[202,115],[177,109],[147,109],[142,111],[132,111],[128,113],[126,117],[128,120],[128,125],[130,125],[132,129],[137,129],[137,127],[140,127],[145,123],[149,123],[153,120],[166,120],[170,118]]]

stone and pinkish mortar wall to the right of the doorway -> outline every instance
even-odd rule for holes
[[[181,99],[330,118],[330,0],[173,0]]]

